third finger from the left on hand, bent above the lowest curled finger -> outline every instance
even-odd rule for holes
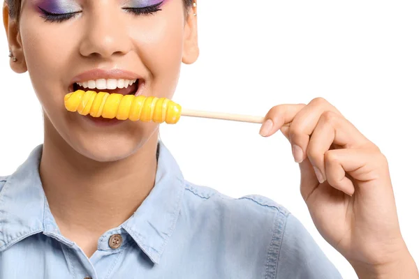
[[[325,181],[325,153],[332,144],[344,148],[374,146],[344,116],[330,111],[323,112],[307,146],[307,157],[320,183]]]

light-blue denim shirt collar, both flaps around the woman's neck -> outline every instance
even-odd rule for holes
[[[36,146],[0,192],[0,252],[40,232],[73,245],[59,233],[47,204],[39,176],[42,150],[43,144]],[[184,194],[184,178],[175,158],[162,142],[158,150],[154,188],[133,216],[120,226],[156,264],[175,229]]]

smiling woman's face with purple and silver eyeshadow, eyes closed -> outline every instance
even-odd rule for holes
[[[100,87],[105,79],[112,87],[109,80],[137,80],[129,87],[137,95],[171,98],[181,62],[198,56],[196,19],[185,16],[182,0],[23,0],[16,35],[12,50],[22,57],[15,67],[29,71],[45,125],[98,161],[129,156],[158,126],[129,120],[103,126],[66,111],[64,96],[74,83]]]

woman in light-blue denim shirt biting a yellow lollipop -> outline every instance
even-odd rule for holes
[[[0,178],[1,278],[340,278],[286,209],[183,179],[156,123],[66,111],[77,89],[171,98],[198,58],[189,0],[8,0],[10,66],[29,72],[45,140]],[[285,123],[291,123],[285,126]],[[385,157],[321,98],[278,105],[323,237],[360,278],[418,278]]]

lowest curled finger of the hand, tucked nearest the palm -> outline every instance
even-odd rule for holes
[[[374,181],[383,174],[386,159],[381,152],[365,149],[335,149],[325,153],[325,174],[330,186],[352,196],[355,186]],[[376,183],[374,183],[376,184]]]

